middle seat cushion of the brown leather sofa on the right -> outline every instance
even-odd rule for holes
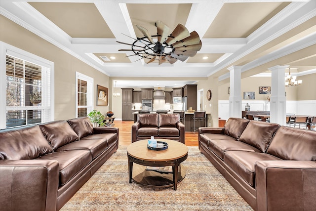
[[[260,150],[258,150],[257,148],[252,147],[241,141],[212,139],[208,141],[207,146],[222,160],[224,160],[224,153],[227,151],[260,152]]]

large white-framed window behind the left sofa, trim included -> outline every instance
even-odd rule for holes
[[[0,44],[0,128],[53,121],[53,63]]]

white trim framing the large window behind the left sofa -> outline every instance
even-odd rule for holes
[[[6,54],[50,69],[50,120],[55,117],[54,62],[0,41],[0,129],[6,128]]]

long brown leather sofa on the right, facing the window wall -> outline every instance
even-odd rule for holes
[[[198,147],[255,211],[315,210],[315,131],[230,118]]]

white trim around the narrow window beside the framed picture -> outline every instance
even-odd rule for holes
[[[78,118],[78,108],[85,108],[85,106],[78,106],[78,79],[87,82],[87,114],[93,111],[93,78],[86,76],[76,71],[76,118]],[[90,108],[90,109],[89,109]]]

